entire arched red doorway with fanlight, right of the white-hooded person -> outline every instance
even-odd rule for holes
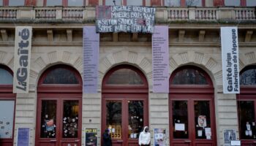
[[[170,145],[216,145],[214,88],[196,66],[183,66],[170,77]]]

